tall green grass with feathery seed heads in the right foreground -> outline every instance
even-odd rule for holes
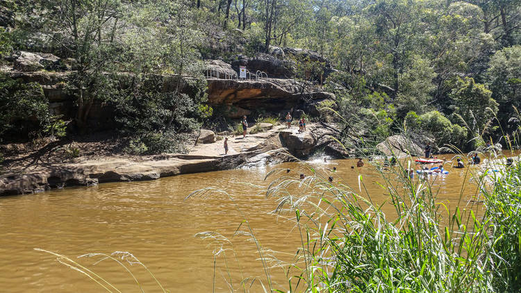
[[[328,181],[329,173],[306,162],[301,165],[312,175],[304,180],[286,176],[286,169],[273,169],[265,176],[270,181],[265,196],[277,203],[274,215],[292,221],[299,232],[300,247],[290,263],[279,260],[276,252],[258,241],[245,207],[232,194],[205,188],[186,199],[222,196],[242,216],[234,235],[246,235],[254,243],[262,278],[245,278],[240,271],[242,281],[233,283],[230,266],[238,263],[233,240],[212,232],[197,235],[215,245],[214,271],[217,259],[223,258],[224,278],[231,292],[247,292],[255,281],[264,292],[518,292],[521,165],[515,160],[506,167],[495,149],[481,154],[488,157],[482,167],[464,172],[464,180],[476,184],[477,191],[465,194],[462,186],[458,199],[452,201],[456,208],[438,199],[432,185],[438,177],[406,175],[413,164],[411,157],[387,171],[374,163],[381,172],[379,185],[386,203],[373,201],[363,176],[358,176],[356,186],[350,186]],[[472,200],[463,208],[468,196]],[[483,200],[486,209],[479,217]],[[393,212],[383,212],[384,205]],[[277,267],[288,278],[288,287],[279,288],[272,282]],[[97,276],[93,279],[98,280]]]

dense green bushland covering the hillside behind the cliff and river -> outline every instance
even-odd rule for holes
[[[411,127],[438,147],[450,142],[474,149],[484,144],[470,141],[476,133],[505,144],[500,128],[510,133],[518,127],[511,119],[513,106],[519,108],[521,101],[521,7],[516,0],[1,3],[2,58],[28,50],[74,59],[76,74],[67,81],[76,97],[70,125],[81,132],[88,130],[94,100],[115,104],[121,117],[135,111],[136,105],[151,106],[131,98],[129,91],[155,95],[154,87],[136,85],[151,74],[201,80],[203,59],[231,62],[238,54],[274,53],[273,46],[315,50],[334,67],[324,63],[308,68],[308,63],[293,60],[295,76],[288,77],[324,83],[336,94],[332,108],[342,117],[336,122],[344,129],[340,137],[344,142],[350,137],[377,142],[402,128],[412,112],[423,118],[421,123],[411,121]],[[130,87],[118,81],[121,72],[135,76]],[[195,108],[204,103],[204,83],[198,85],[201,90],[185,96],[180,86],[178,81],[161,92],[151,106],[158,110],[148,111],[150,119],[162,125],[154,123],[151,128],[144,123],[138,132],[179,133],[193,129],[193,119],[204,122],[208,111],[176,112],[187,107],[187,99]],[[437,122],[427,125],[423,115],[433,111],[438,113]],[[174,123],[172,117],[179,115],[189,119]],[[166,123],[165,117],[169,117]],[[493,117],[500,128],[488,126]],[[140,124],[119,125],[130,133]]]

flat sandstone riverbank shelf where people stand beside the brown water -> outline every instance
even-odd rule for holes
[[[249,128],[249,132],[256,126]],[[197,143],[188,153],[171,153],[156,156],[129,156],[117,150],[110,152],[110,146],[99,145],[78,158],[60,156],[54,153],[38,153],[16,159],[7,158],[5,173],[0,175],[0,195],[43,192],[51,188],[77,185],[97,185],[117,181],[147,181],[179,174],[233,169],[240,166],[279,163],[304,158],[316,149],[325,148],[333,157],[348,156],[333,148],[331,131],[318,124],[310,124],[306,133],[298,133],[293,126],[276,125],[263,128],[256,134],[229,137],[229,153],[224,154],[222,140]],[[212,140],[214,141],[214,140]],[[110,142],[110,141],[108,141]],[[112,142],[113,146],[117,143]],[[42,149],[53,149],[53,143]],[[193,145],[193,144],[192,144]],[[91,146],[89,144],[89,146]],[[56,148],[55,148],[56,149]],[[60,148],[57,148],[60,149]],[[64,153],[61,151],[61,153]],[[38,157],[53,160],[40,160]]]

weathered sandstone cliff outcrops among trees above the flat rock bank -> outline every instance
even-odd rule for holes
[[[291,53],[297,55],[301,52]],[[306,51],[306,54],[310,53]],[[12,69],[3,67],[3,72],[10,77],[42,85],[44,94],[49,99],[51,115],[74,117],[74,92],[67,90],[69,76],[74,72],[74,60],[24,51],[17,52],[6,60],[13,64]],[[256,110],[280,113],[293,108],[310,112],[306,108],[310,103],[335,98],[333,94],[323,92],[320,87],[304,86],[294,78],[267,78],[265,72],[269,76],[292,75],[294,62],[284,59],[282,49],[274,51],[272,55],[263,54],[238,61],[240,62],[232,61],[229,64],[222,60],[206,60],[208,103],[222,110],[220,113],[226,117],[238,118]],[[243,63],[251,74],[240,79],[234,66],[238,67]],[[262,70],[263,73],[256,76],[254,72],[257,70]],[[173,82],[174,78],[165,76],[163,89],[171,90]],[[186,91],[190,89],[187,88]],[[112,116],[112,108],[97,101],[90,111],[89,124],[93,128],[104,128],[110,125]]]

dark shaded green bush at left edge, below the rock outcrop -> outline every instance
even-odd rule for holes
[[[1,137],[34,136],[49,124],[49,101],[38,83],[23,83],[0,74]]]

